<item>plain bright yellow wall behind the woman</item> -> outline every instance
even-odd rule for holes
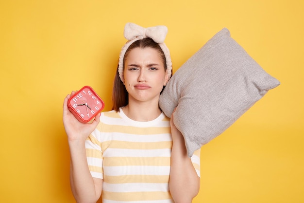
[[[73,203],[62,103],[111,109],[123,27],[167,25],[176,71],[223,27],[281,85],[203,146],[193,203],[304,202],[304,1],[1,0],[0,202]]]

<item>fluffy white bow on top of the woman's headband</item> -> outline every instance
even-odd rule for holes
[[[163,43],[165,41],[166,35],[168,33],[168,28],[164,25],[159,25],[155,27],[143,28],[134,23],[127,23],[124,28],[124,37],[128,40],[143,39],[146,37],[152,38],[156,43]]]

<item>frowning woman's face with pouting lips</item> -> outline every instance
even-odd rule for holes
[[[124,62],[124,85],[129,103],[135,101],[158,102],[163,86],[168,82],[163,60],[153,48],[135,48]]]

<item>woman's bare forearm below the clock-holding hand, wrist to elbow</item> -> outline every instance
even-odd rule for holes
[[[100,190],[96,188],[88,169],[83,141],[69,142],[70,148],[70,184],[77,203],[96,203]]]

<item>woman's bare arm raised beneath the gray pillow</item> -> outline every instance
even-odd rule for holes
[[[172,152],[169,188],[175,203],[191,203],[200,190],[198,177],[191,159],[187,156],[185,140],[171,116]]]

